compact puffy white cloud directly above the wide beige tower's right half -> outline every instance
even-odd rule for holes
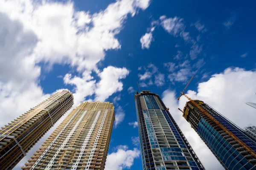
[[[96,101],[105,101],[109,96],[117,91],[122,91],[122,82],[120,79],[124,79],[129,74],[126,68],[116,68],[108,66],[104,68],[99,77],[101,80],[96,84],[97,88],[95,91]]]

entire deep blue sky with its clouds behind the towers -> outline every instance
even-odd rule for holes
[[[141,89],[163,97],[204,166],[221,169],[177,111],[186,99],[176,98],[194,75],[189,96],[204,100],[241,127],[254,123],[256,111],[244,103],[256,101],[255,5],[0,0],[0,125],[58,89],[74,93],[74,107],[87,100],[114,102],[117,119],[106,169],[139,170],[139,147],[134,143],[138,130],[129,125],[137,121],[138,81]]]

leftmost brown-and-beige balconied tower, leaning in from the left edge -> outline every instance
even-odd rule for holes
[[[73,95],[60,91],[31,108],[0,131],[0,169],[11,170],[73,105]]]

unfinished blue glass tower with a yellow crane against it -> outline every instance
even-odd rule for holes
[[[183,117],[191,124],[226,170],[256,170],[256,143],[238,126],[200,100],[194,100],[218,123],[209,118],[192,102],[186,102]],[[223,127],[222,127],[223,126]],[[227,129],[231,135],[227,134]],[[239,143],[240,142],[240,143]]]

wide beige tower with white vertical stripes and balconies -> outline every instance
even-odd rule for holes
[[[81,103],[22,169],[103,170],[114,120],[113,103]]]

